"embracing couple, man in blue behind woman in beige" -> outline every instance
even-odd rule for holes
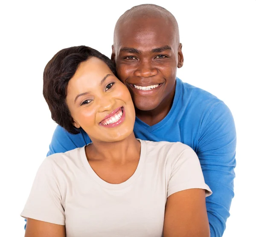
[[[176,78],[175,17],[143,4],[117,21],[111,59],[62,49],[44,70],[56,128],[21,215],[26,237],[219,237],[236,130],[223,101]]]

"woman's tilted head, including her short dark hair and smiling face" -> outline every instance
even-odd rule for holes
[[[62,49],[44,69],[44,98],[52,119],[68,132],[82,128],[93,140],[113,142],[132,133],[131,95],[111,60],[95,49]]]

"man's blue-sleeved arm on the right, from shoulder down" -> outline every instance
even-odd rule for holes
[[[205,182],[212,190],[206,198],[211,237],[221,237],[230,216],[236,166],[236,128],[222,101],[203,120],[196,153]]]

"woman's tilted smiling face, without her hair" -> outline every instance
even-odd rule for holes
[[[117,142],[134,128],[131,95],[99,58],[79,64],[67,86],[67,106],[74,120],[93,142]]]

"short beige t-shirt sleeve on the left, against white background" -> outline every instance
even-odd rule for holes
[[[49,158],[38,169],[29,198],[20,215],[26,219],[65,225],[58,178]]]

